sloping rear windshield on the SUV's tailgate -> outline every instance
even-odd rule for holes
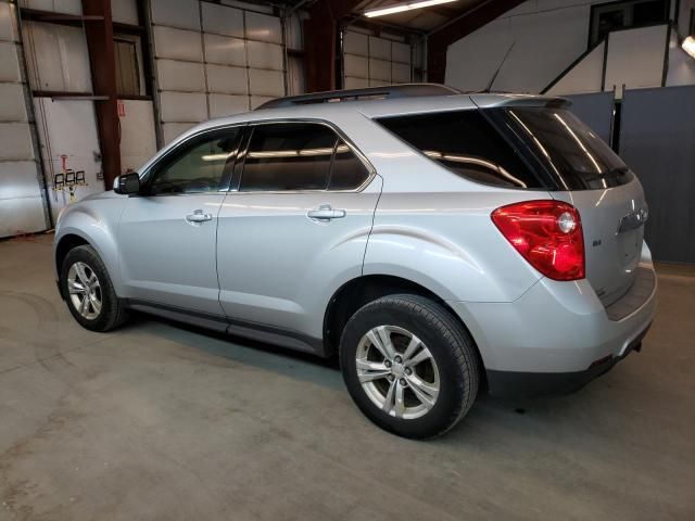
[[[565,109],[507,109],[517,132],[560,189],[602,189],[629,182],[633,175],[606,142]]]

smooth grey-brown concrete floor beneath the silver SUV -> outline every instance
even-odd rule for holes
[[[139,318],[83,330],[50,237],[0,243],[0,519],[695,519],[695,270],[572,396],[483,397],[410,442],[338,370]]]

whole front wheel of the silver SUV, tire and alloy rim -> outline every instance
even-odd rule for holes
[[[110,331],[127,319],[106,267],[89,245],[67,253],[61,270],[61,288],[73,317],[86,329]]]

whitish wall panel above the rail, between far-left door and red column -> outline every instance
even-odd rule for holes
[[[34,89],[91,92],[87,39],[80,27],[27,22],[23,36]]]

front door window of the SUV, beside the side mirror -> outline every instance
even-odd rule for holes
[[[152,195],[226,190],[235,161],[239,128],[215,130],[184,143],[156,167]]]

